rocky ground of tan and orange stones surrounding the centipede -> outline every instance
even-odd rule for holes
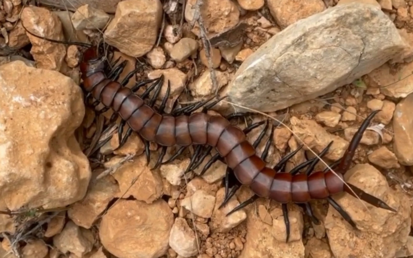
[[[211,114],[258,111],[233,123],[271,121],[268,166],[304,144],[286,171],[331,141],[316,170],[337,161],[380,109],[345,180],[397,211],[334,196],[355,230],[326,200],[311,202],[319,225],[290,204],[288,242],[273,201],[225,216],[252,191],[218,209],[224,163],[200,175],[209,155],[184,175],[185,152],[152,169],[160,149],[147,164],[135,133],[118,149],[112,111],[83,102],[84,48],[25,28],[115,47],[113,60],[128,61],[119,81],[137,69],[127,87],[164,75],[167,112],[215,93],[228,97]],[[1,257],[413,257],[413,1],[0,0],[0,33]]]

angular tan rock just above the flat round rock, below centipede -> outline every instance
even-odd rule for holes
[[[113,158],[106,167],[114,166],[119,159]],[[163,193],[162,179],[159,170],[151,170],[146,164],[146,156],[140,155],[131,162],[123,163],[113,174],[119,184],[120,191],[116,197],[129,198],[133,196],[139,201],[151,204]]]

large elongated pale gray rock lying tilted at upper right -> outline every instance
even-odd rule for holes
[[[228,100],[270,112],[331,92],[408,47],[375,5],[337,5],[273,36],[240,66]]]

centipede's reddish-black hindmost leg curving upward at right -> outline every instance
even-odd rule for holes
[[[363,121],[360,128],[358,128],[357,132],[354,134],[353,139],[351,139],[351,142],[346,152],[344,152],[344,156],[340,162],[340,165],[338,166],[338,171],[336,172],[342,173],[343,175],[347,172],[351,165],[351,161],[353,160],[354,152],[356,151],[357,145],[360,143],[361,138],[363,137],[364,131],[367,129],[375,114],[377,114],[380,111],[381,110],[379,109],[371,112],[371,114],[368,115],[368,117]]]

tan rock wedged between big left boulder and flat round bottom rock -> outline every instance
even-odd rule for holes
[[[76,225],[89,229],[117,193],[119,186],[112,176],[97,180],[89,186],[85,198],[69,208],[67,215]]]

